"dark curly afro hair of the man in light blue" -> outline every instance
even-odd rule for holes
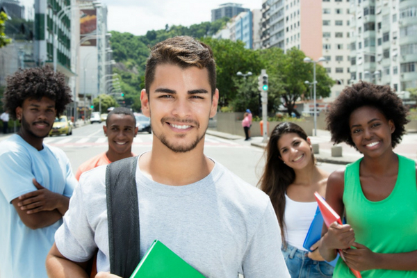
[[[58,117],[64,112],[65,106],[72,101],[71,90],[65,82],[64,74],[54,72],[49,66],[19,69],[7,77],[3,109],[16,120],[16,108],[22,107],[25,99],[40,100],[42,97],[55,101]]]

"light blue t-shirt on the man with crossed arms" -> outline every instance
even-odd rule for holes
[[[0,142],[0,277],[47,277],[45,259],[59,220],[49,227],[30,229],[20,220],[12,200],[36,190],[32,179],[54,193],[71,197],[77,181],[70,161],[58,148],[38,151],[22,137]]]

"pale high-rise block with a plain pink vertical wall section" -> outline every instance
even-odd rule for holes
[[[313,60],[325,57],[321,65],[336,81],[334,99],[350,79],[349,7],[348,0],[264,0],[262,48],[295,47]]]

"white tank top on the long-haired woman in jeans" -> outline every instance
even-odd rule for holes
[[[316,214],[317,202],[295,202],[287,195],[285,195],[285,200],[286,242],[297,249],[310,251],[302,247],[302,244]]]

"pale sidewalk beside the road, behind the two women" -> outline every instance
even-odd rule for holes
[[[210,129],[208,129],[206,133],[211,136],[217,136],[229,140],[244,139],[243,136],[236,136],[233,134],[223,133]],[[319,146],[318,154],[314,154],[314,156],[316,156],[317,161],[319,162],[332,164],[347,164],[357,161],[359,158],[362,157],[362,155],[356,149],[350,147],[345,143],[338,145],[342,147],[342,156],[332,156],[333,143],[330,142],[331,136],[329,131],[318,129],[317,136],[309,136],[309,138],[311,140],[311,143],[318,144]],[[252,137],[250,140],[250,145],[254,147],[264,148],[266,146],[266,142],[262,141],[263,138],[261,136]],[[394,152],[417,161],[417,133],[408,133],[404,135],[402,138],[402,142],[400,142],[400,144],[397,147],[395,147]]]

